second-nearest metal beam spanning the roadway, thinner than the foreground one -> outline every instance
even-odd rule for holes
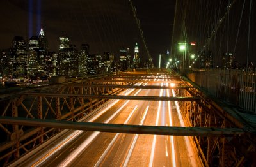
[[[88,95],[88,94],[54,94],[54,93],[36,93],[20,92],[20,95],[27,96],[45,96],[58,98],[89,98],[89,99],[130,99],[146,101],[198,101],[199,97],[159,97],[159,96],[122,96],[122,95]]]

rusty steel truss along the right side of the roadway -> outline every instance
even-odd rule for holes
[[[176,90],[177,96],[200,96],[202,98],[202,100],[196,102],[179,102],[182,108],[182,115],[186,117],[187,126],[208,128],[238,127],[244,129],[244,124],[230,115],[232,111],[227,106],[225,107],[221,102],[218,102],[218,104],[222,106],[217,105],[212,101],[212,98],[205,96],[207,93],[199,91],[200,89],[195,85],[190,86],[193,86],[193,88],[189,88],[187,91]],[[253,132],[253,134],[245,133],[239,137],[232,138],[193,136],[191,140],[195,142],[196,148],[198,148],[198,155],[205,166],[244,166],[245,164],[252,164],[253,159],[248,155],[250,153],[255,154],[256,148],[255,131],[250,128],[248,131]],[[238,144],[237,140],[242,140],[243,142]]]

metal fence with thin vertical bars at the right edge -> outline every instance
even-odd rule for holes
[[[223,101],[256,113],[256,69],[210,69],[188,78]]]

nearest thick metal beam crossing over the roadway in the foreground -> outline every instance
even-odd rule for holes
[[[245,132],[238,128],[214,127],[173,127],[173,126],[139,126],[127,124],[104,124],[93,122],[72,122],[61,120],[26,119],[17,117],[0,117],[2,124],[20,124],[24,126],[52,127],[82,131],[100,131],[110,133],[157,134],[172,136],[236,136]]]

